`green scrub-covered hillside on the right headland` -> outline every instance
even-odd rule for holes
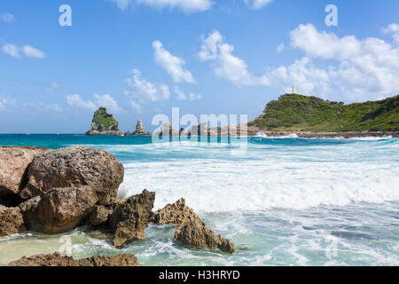
[[[399,131],[399,95],[345,105],[317,97],[286,94],[272,100],[249,126],[262,130]]]

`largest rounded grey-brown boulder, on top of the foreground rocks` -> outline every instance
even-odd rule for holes
[[[53,188],[90,185],[101,204],[116,196],[123,181],[123,166],[101,149],[71,146],[35,156],[27,170],[24,199],[43,195]]]

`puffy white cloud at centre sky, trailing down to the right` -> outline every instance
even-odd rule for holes
[[[214,61],[215,75],[230,80],[237,85],[268,85],[265,76],[256,77],[248,71],[246,62],[232,55],[234,46],[223,42],[223,36],[217,30],[204,38],[199,52],[202,61]]]

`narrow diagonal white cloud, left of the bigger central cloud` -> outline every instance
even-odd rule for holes
[[[195,83],[192,73],[184,69],[184,59],[178,58],[167,51],[160,41],[153,42],[154,59],[172,76],[175,83]]]

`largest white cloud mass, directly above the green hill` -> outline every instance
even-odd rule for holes
[[[391,29],[395,27],[391,27]],[[379,38],[339,37],[311,24],[291,32],[291,44],[307,56],[269,72],[275,84],[292,84],[301,93],[342,94],[350,101],[381,99],[397,93],[399,48]],[[313,59],[328,67],[315,67]]]

